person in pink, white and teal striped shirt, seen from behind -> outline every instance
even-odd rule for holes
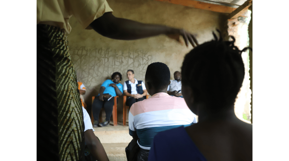
[[[158,132],[197,122],[184,98],[168,95],[170,77],[166,64],[150,64],[145,74],[145,87],[152,97],[134,103],[129,110],[129,135],[140,146],[138,159],[147,160],[153,137]]]

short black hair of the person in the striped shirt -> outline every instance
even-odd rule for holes
[[[162,89],[170,83],[171,73],[168,66],[161,62],[149,64],[145,79],[150,80],[156,89]]]

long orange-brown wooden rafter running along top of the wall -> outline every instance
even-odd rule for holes
[[[215,4],[210,4],[210,3],[203,3],[203,2],[194,1],[194,0],[155,0],[155,1],[163,1],[163,2],[168,2],[168,3],[178,4],[178,5],[184,5],[188,7],[205,9],[205,10],[214,11],[214,12],[227,13],[227,14],[230,14],[234,10],[236,10],[236,8],[233,8],[233,7],[215,5]]]

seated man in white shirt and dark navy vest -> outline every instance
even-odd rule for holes
[[[142,81],[134,78],[133,70],[127,70],[127,79],[123,84],[123,94],[127,96],[126,105],[130,108],[132,104],[144,100],[147,89]]]

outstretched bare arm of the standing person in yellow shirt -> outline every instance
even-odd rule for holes
[[[182,36],[187,46],[189,45],[189,42],[193,47],[199,45],[197,39],[191,33],[188,33],[183,29],[164,25],[144,24],[124,18],[117,18],[112,15],[112,12],[104,13],[89,26],[99,34],[112,39],[134,40],[166,34],[168,37],[179,42],[181,42],[180,36]]]

